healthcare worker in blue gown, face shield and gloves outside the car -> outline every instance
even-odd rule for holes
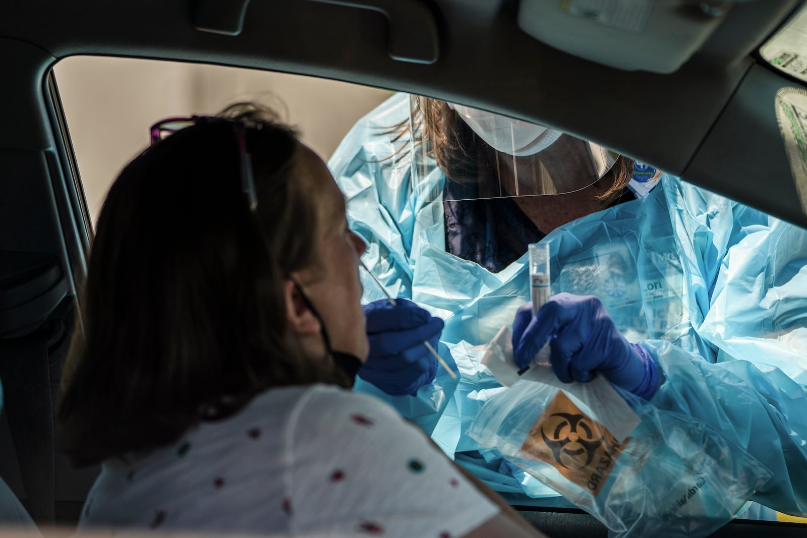
[[[600,373],[700,419],[771,471],[752,500],[807,513],[805,230],[596,144],[408,94],[360,120],[328,165],[363,261],[411,300],[391,307],[366,277],[357,388],[460,465],[514,503],[564,505],[466,435],[504,390],[482,346],[512,325],[517,362],[549,340],[563,382]],[[550,246],[555,295],[533,316],[537,241]],[[424,340],[439,340],[458,381]]]

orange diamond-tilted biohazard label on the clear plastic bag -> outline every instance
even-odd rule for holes
[[[602,424],[583,415],[566,394],[558,391],[530,428],[521,451],[525,456],[546,461],[596,497],[623,446]]]

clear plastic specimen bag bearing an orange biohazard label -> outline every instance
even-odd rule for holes
[[[640,422],[617,440],[582,410],[602,413],[604,391],[570,389],[521,379],[485,403],[469,435],[594,515],[609,536],[707,536],[771,478],[700,420],[622,390]]]

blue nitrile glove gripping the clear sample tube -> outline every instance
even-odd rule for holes
[[[534,316],[529,302],[521,306],[512,324],[516,364],[529,365],[546,340],[552,369],[564,383],[590,382],[597,371],[639,398],[649,400],[659,389],[659,365],[625,340],[593,295],[554,295]]]

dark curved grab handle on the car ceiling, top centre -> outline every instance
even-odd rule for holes
[[[440,56],[437,19],[431,8],[420,0],[310,0],[337,6],[374,10],[387,17],[387,50],[393,60],[415,64],[433,64]]]

